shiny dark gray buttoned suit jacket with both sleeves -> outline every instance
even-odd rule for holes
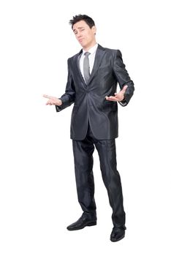
[[[98,45],[94,67],[87,85],[79,67],[82,52],[83,50],[80,50],[80,53],[68,59],[66,90],[60,98],[62,105],[56,106],[56,111],[64,110],[75,103],[70,127],[72,140],[83,140],[86,137],[88,121],[96,139],[117,138],[118,103],[107,101],[105,96],[114,95],[117,83],[121,89],[127,85],[125,98],[120,102],[125,106],[134,93],[134,83],[125,69],[121,51]]]

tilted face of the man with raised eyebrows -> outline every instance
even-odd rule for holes
[[[83,48],[90,48],[96,42],[95,34],[96,27],[93,26],[91,29],[84,20],[80,20],[73,26],[75,37]]]

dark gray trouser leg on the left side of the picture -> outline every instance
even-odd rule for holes
[[[78,202],[84,212],[96,215],[93,175],[94,143],[86,137],[85,140],[72,140],[72,146]]]

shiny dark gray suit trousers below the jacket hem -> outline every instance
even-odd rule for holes
[[[123,209],[123,194],[121,178],[117,170],[115,139],[97,140],[88,124],[88,132],[84,140],[72,140],[75,161],[75,180],[78,202],[84,212],[96,217],[94,200],[94,148],[99,154],[100,169],[104,185],[107,189],[110,206],[113,209],[114,227],[125,227],[125,212]],[[95,147],[94,147],[95,146]]]

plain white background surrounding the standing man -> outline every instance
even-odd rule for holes
[[[127,227],[118,243],[96,151],[98,225],[66,230],[82,213],[72,106],[56,113],[42,97],[64,94],[66,61],[80,50],[69,20],[80,13],[94,18],[100,45],[121,50],[135,85],[118,110]],[[164,0],[1,0],[1,256],[170,255],[170,21]]]

